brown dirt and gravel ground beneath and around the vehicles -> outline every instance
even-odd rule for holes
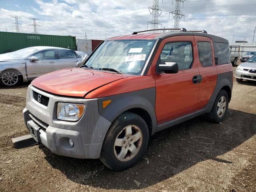
[[[235,70],[235,68],[234,68]],[[114,172],[100,160],[52,154],[42,144],[14,149],[29,83],[0,88],[0,191],[256,192],[256,82],[234,81],[220,124],[200,116],[150,138],[136,166]]]

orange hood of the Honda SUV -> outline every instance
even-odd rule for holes
[[[84,97],[88,92],[128,75],[83,68],[68,68],[48,73],[33,80],[36,88],[63,96]]]

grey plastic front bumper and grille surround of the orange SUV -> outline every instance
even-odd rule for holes
[[[33,91],[49,98],[48,106],[34,100]],[[58,102],[85,104],[85,112],[78,122],[61,121],[56,118]],[[102,142],[110,122],[98,113],[97,99],[65,98],[43,92],[33,86],[28,87],[24,122],[36,124],[40,142],[54,154],[74,158],[99,158]],[[74,142],[71,147],[68,140]]]

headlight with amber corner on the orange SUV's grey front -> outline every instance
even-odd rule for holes
[[[57,118],[63,121],[77,121],[84,114],[84,104],[58,103]]]

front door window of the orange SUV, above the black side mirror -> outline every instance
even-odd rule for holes
[[[160,63],[176,62],[179,69],[190,68],[193,61],[192,44],[190,42],[172,42],[164,45],[160,54]]]

